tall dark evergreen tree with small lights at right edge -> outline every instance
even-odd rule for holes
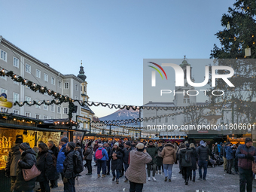
[[[224,29],[215,34],[221,47],[214,44],[211,58],[215,59],[214,65],[232,67],[234,75],[230,81],[235,87],[229,87],[222,79],[218,79],[214,88],[224,90],[224,96],[212,96],[211,99],[213,105],[221,102],[221,108],[227,103],[231,104],[233,111],[245,114],[243,121],[253,123],[256,117],[256,2],[236,0],[233,8],[228,8],[227,12],[221,18]],[[251,49],[251,56],[245,56],[246,48]],[[218,71],[218,74],[228,73]],[[209,81],[209,84],[212,82]]]

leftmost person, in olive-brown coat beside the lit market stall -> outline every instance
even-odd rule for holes
[[[19,145],[23,143],[23,139],[17,138],[15,145],[11,148],[8,153],[8,158],[6,161],[5,175],[11,177],[11,190],[14,189],[14,183],[16,181],[16,172],[18,166],[18,160],[20,160],[20,148]]]

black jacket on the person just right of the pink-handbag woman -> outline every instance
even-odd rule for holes
[[[36,166],[41,171],[36,181],[49,181],[50,170],[53,169],[53,157],[49,152],[39,152],[36,158]]]

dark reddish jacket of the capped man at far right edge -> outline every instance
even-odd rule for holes
[[[238,166],[242,169],[250,169],[251,170],[251,160],[245,158],[245,154],[251,154],[256,159],[256,148],[251,146],[247,148],[246,145],[239,145],[236,150],[236,157],[238,157]]]

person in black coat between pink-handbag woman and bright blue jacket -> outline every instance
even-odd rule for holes
[[[50,192],[49,180],[51,176],[51,169],[53,169],[53,157],[48,152],[47,145],[45,143],[40,143],[38,145],[38,157],[36,158],[36,166],[41,172],[36,178],[39,182],[41,192]]]

